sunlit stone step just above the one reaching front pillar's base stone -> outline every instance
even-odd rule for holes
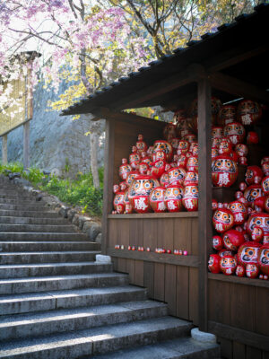
[[[146,320],[167,314],[166,304],[143,301],[3,316],[0,318],[0,340],[39,337],[134,320]]]

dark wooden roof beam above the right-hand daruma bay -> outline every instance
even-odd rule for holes
[[[269,92],[258,86],[241,81],[228,74],[214,73],[209,75],[210,83],[215,89],[233,93],[239,97],[269,103]]]

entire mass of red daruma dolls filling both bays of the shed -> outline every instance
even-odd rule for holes
[[[247,144],[257,144],[253,125],[262,117],[256,101],[222,105],[212,98],[212,180],[230,187],[238,179],[238,165],[247,166]],[[138,135],[129,158],[122,159],[114,185],[113,214],[180,212],[198,209],[197,101],[188,116],[175,113],[164,127],[164,139],[149,146]],[[269,156],[247,167],[230,204],[213,200],[212,273],[268,278],[269,274]]]

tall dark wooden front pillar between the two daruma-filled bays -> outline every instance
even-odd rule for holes
[[[207,331],[207,261],[212,241],[211,85],[198,81],[199,146],[199,329]]]

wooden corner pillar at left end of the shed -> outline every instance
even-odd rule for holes
[[[106,146],[105,146],[105,171],[104,171],[104,195],[102,216],[102,254],[108,252],[108,214],[112,211],[113,180],[114,180],[114,141],[115,119],[106,119]]]

